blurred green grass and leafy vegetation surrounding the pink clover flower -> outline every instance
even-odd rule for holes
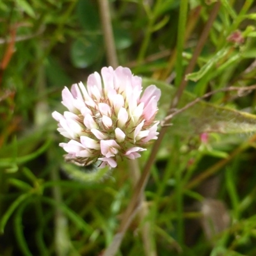
[[[238,89],[255,85],[254,1],[9,0],[0,17],[0,255],[103,255],[118,230],[117,255],[256,255],[256,122],[225,109],[255,113]],[[156,159],[149,148],[77,180],[51,113],[64,86],[108,65],[161,88],[161,120],[220,92],[168,120]]]

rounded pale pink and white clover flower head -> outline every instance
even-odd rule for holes
[[[65,160],[80,166],[99,161],[116,167],[117,159],[135,159],[157,139],[157,101],[161,91],[148,86],[141,96],[141,78],[125,67],[104,67],[88,77],[87,86],[73,84],[62,91],[63,115],[54,111],[58,131],[68,139],[60,147]],[[98,163],[98,162],[97,162]]]

